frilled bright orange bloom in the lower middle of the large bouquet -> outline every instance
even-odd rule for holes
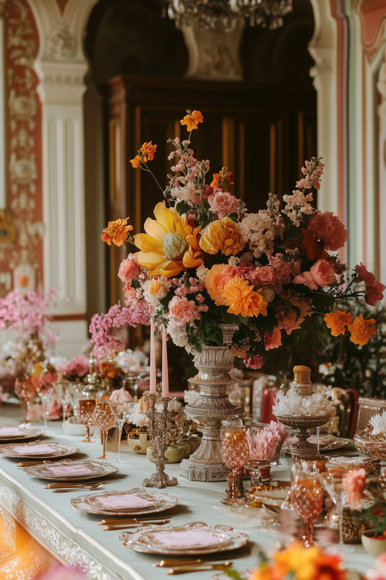
[[[229,306],[228,312],[236,316],[267,316],[267,302],[261,292],[261,288],[254,290],[240,276],[230,278],[223,289],[226,305]]]

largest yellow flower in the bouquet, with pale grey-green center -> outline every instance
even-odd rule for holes
[[[146,234],[134,236],[141,250],[136,254],[138,263],[148,269],[149,277],[171,278],[184,269],[201,266],[202,252],[197,242],[201,226],[189,226],[186,213],[179,216],[164,201],[156,205],[154,215],[155,220],[148,218],[145,222]]]

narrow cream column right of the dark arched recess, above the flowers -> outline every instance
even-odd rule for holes
[[[308,52],[315,61],[310,75],[317,90],[318,156],[325,169],[318,192],[318,208],[339,214],[337,188],[337,26],[329,0],[310,0],[314,10],[315,30]]]

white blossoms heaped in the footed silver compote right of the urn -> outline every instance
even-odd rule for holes
[[[300,417],[307,415],[309,417],[336,414],[333,408],[332,396],[330,387],[320,385],[317,387],[316,393],[309,397],[300,397],[295,389],[289,389],[288,393],[279,396],[278,400],[273,406],[273,414],[275,416],[295,416]]]

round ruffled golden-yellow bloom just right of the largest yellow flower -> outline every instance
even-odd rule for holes
[[[226,256],[235,255],[244,247],[240,242],[238,224],[228,216],[209,223],[201,236],[200,247],[207,253],[217,253],[219,250]]]

